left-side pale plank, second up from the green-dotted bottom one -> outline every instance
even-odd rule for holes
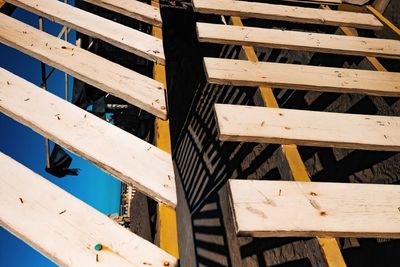
[[[0,111],[153,199],[176,206],[168,153],[1,68]]]

